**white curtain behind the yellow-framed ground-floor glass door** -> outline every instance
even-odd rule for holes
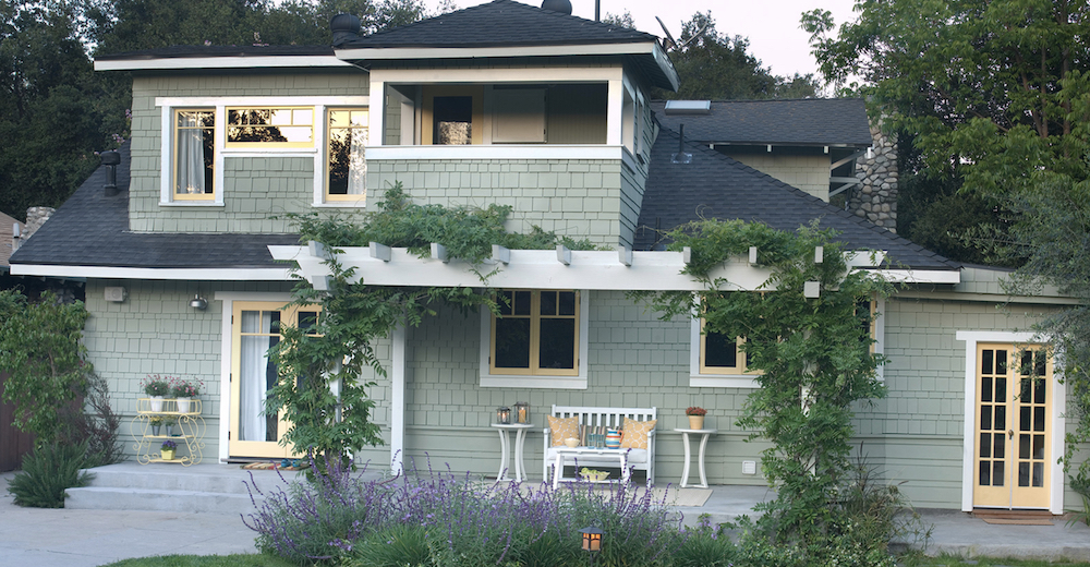
[[[242,312],[245,333],[271,333],[271,313]],[[239,439],[265,441],[265,390],[268,369],[269,337],[242,337],[242,360],[239,379]]]

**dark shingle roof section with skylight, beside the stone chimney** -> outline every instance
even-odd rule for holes
[[[666,102],[651,102],[658,121],[686,140],[729,144],[871,145],[861,98],[797,100],[716,100],[708,114],[666,114]]]

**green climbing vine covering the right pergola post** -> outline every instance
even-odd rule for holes
[[[748,370],[759,372],[754,379],[761,387],[748,397],[738,425],[753,431],[751,438],[771,442],[762,471],[777,487],[761,522],[778,541],[820,548],[851,529],[850,515],[836,503],[852,470],[852,407],[884,395],[876,377],[883,359],[870,348],[869,302],[889,286],[864,270],[849,270],[849,251],[816,227],[792,233],[705,220],[666,237],[673,250],[691,250],[685,273],[707,291],[633,295],[663,318],[699,316],[705,333],[746,338],[740,350]],[[730,282],[715,278],[715,268],[750,246],[756,246],[759,264],[771,277],[760,292],[725,291]],[[818,297],[806,297],[808,281],[818,282]]]

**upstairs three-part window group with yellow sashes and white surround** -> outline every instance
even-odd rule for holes
[[[245,176],[245,166],[230,161],[257,157],[296,178],[300,169],[313,176],[312,206],[365,206],[368,101],[367,96],[157,97],[164,124],[159,204],[223,206],[231,198],[225,192],[237,186],[225,176]]]

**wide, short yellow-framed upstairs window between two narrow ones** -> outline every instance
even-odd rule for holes
[[[314,108],[229,107],[227,146],[314,147]]]

